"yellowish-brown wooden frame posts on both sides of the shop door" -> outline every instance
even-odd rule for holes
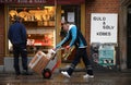
[[[61,37],[60,37],[60,28],[61,28],[61,5],[58,4],[57,8],[56,8],[56,45],[58,42],[60,42],[61,40]],[[81,4],[81,31],[82,31],[82,34],[85,36],[85,3],[82,3]],[[61,60],[61,51],[59,51],[57,53],[57,57],[58,57],[58,60]],[[81,63],[81,66],[83,66],[83,63]]]

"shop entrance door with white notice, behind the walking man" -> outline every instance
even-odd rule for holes
[[[61,21],[67,21],[69,23],[75,24],[76,27],[81,29],[81,5],[61,5]],[[67,33],[61,27],[61,39],[64,38],[66,34]],[[69,42],[67,45],[69,45]],[[74,59],[74,52],[75,47],[71,48],[71,51],[63,50],[61,52],[61,63],[63,69],[66,69]],[[82,62],[80,62],[75,70],[78,71],[82,68]]]

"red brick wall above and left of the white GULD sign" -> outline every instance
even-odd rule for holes
[[[120,0],[85,0],[86,1],[86,40],[90,44],[91,13],[119,13]]]

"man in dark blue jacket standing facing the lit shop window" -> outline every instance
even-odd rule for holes
[[[27,50],[26,50],[26,28],[22,24],[22,17],[15,16],[15,22],[10,26],[8,38],[13,45],[13,56],[14,56],[14,70],[15,74],[20,75],[21,70],[19,65],[19,56],[22,57],[23,74],[28,74],[27,72]]]

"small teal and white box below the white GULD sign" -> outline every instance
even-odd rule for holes
[[[98,63],[100,65],[115,65],[115,47],[114,46],[104,46],[99,48],[98,51]]]

